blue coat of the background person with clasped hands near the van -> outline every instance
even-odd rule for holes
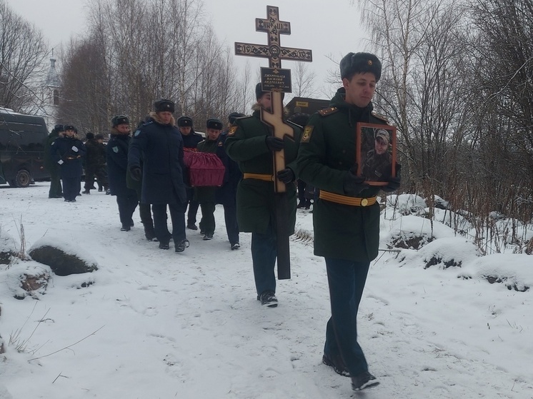
[[[78,151],[74,151],[77,148]],[[85,146],[76,137],[58,137],[50,147],[51,158],[60,164],[61,178],[81,178]]]

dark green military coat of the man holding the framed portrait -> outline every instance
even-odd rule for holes
[[[339,89],[332,108],[314,113],[304,128],[298,154],[299,178],[320,190],[347,196],[344,178],[357,163],[357,122],[387,121],[372,113],[372,103],[359,108],[344,101]],[[376,196],[379,188],[369,187],[357,197]],[[379,204],[350,206],[319,199],[313,205],[314,254],[327,258],[369,262],[379,245]]]

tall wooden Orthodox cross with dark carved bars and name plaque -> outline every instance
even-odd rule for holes
[[[271,126],[274,136],[294,138],[294,130],[283,121],[282,93],[291,92],[291,71],[282,69],[282,59],[292,61],[312,61],[312,51],[282,47],[280,35],[291,34],[291,24],[279,20],[279,9],[266,6],[266,19],[255,19],[256,31],[266,32],[268,43],[235,43],[235,54],[269,59],[269,68],[261,68],[261,86],[263,91],[271,91],[272,112],[261,108],[261,121]],[[291,278],[291,259],[289,253],[289,203],[287,189],[277,178],[277,172],[285,168],[284,151],[274,151],[274,191],[276,192],[277,221],[277,264],[278,278]]]

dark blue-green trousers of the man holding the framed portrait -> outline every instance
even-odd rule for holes
[[[350,375],[368,370],[367,360],[357,343],[357,310],[363,295],[370,263],[325,258],[332,317],[326,327],[324,353],[344,360]]]

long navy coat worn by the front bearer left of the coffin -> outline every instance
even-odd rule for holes
[[[142,203],[186,203],[183,178],[183,138],[171,123],[163,124],[156,113],[135,131],[128,153],[128,168],[141,167]]]

